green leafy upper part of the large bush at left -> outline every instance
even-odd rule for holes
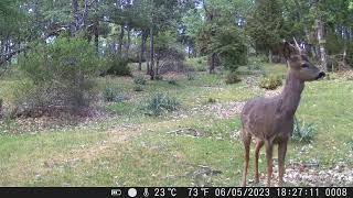
[[[99,74],[99,61],[93,47],[82,38],[58,37],[53,43],[36,43],[19,58],[19,68],[34,84],[69,81]]]

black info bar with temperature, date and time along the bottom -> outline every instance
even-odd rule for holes
[[[2,187],[1,198],[353,197],[352,187]]]

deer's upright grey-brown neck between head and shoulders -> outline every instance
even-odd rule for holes
[[[280,112],[286,117],[292,117],[300,102],[300,95],[304,88],[304,82],[297,79],[290,70],[287,73],[286,85],[280,95]]]

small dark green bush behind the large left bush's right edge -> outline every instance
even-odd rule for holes
[[[131,69],[128,66],[128,61],[124,59],[117,55],[110,55],[106,59],[106,75],[116,76],[131,76]]]

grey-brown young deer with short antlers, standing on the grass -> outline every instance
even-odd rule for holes
[[[265,145],[267,161],[267,182],[270,187],[272,177],[272,150],[278,144],[278,186],[284,184],[285,157],[287,144],[293,131],[293,117],[300,102],[306,81],[319,80],[325,76],[313,66],[295,44],[284,43],[284,56],[287,62],[287,76],[282,91],[271,98],[257,97],[248,100],[240,113],[242,140],[245,147],[242,186],[246,187],[246,175],[249,162],[250,143],[255,141],[255,184],[259,183],[258,157]]]

